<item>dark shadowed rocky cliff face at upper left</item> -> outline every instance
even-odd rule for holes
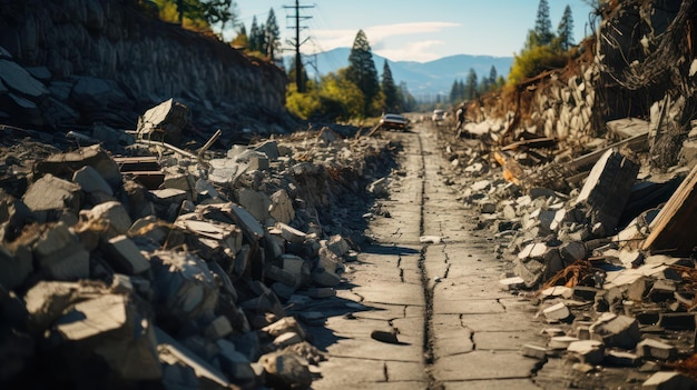
[[[46,86],[29,96],[0,88],[6,123],[132,128],[169,98],[204,132],[239,130],[261,114],[267,124],[284,120],[281,69],[151,18],[136,0],[3,0],[1,9],[0,61]]]

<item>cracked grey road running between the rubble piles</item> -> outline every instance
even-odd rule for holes
[[[328,354],[312,388],[538,389],[540,361],[519,350],[543,342],[543,323],[501,290],[504,261],[445,184],[435,132],[390,137],[404,146],[382,202],[390,218],[371,221],[373,244],[347,263],[324,327],[310,329]]]

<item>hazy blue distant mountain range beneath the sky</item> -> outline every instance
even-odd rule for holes
[[[307,76],[314,78],[336,72],[348,66],[350,48],[337,48],[324,51],[305,59]],[[382,77],[384,57],[373,53],[377,74]],[[458,54],[444,57],[429,62],[387,60],[394,82],[406,83],[406,89],[418,100],[435,100],[438,94],[449,96],[455,80],[467,81],[470,68],[474,69],[479,80],[489,77],[491,66],[498,76],[508,77],[513,57]]]

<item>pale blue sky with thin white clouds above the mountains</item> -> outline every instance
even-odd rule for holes
[[[291,18],[295,0],[235,0],[239,21],[249,30],[253,17],[265,23],[271,8],[283,36],[294,37]],[[305,0],[302,16],[303,52],[350,48],[363,30],[374,53],[392,61],[428,62],[454,54],[511,57],[534,27],[539,0]],[[583,0],[548,0],[552,29],[567,4],[571,7],[575,40],[591,32],[590,6]],[[596,21],[596,24],[599,20]],[[226,36],[226,39],[229,39]],[[288,52],[289,53],[289,52]]]

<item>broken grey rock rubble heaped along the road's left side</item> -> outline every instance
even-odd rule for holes
[[[325,128],[117,157],[1,131],[0,383],[310,386],[324,357],[303,321],[322,319],[303,308],[355,260],[366,222],[345,217],[370,208],[387,141]]]

